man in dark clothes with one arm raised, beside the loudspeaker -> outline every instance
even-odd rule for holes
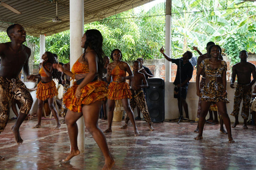
[[[184,107],[184,111],[186,113],[186,118],[188,117],[188,104],[186,102],[187,92],[188,92],[188,84],[189,80],[192,78],[194,67],[190,63],[190,58],[193,57],[193,54],[190,51],[187,51],[182,55],[182,58],[172,59],[164,53],[164,48],[160,49],[160,52],[164,55],[167,61],[175,63],[177,65],[177,73],[173,84],[174,88],[174,98],[178,99],[178,106],[180,115],[182,114],[182,105]],[[181,69],[181,70],[180,70]],[[180,75],[181,72],[181,75]],[[181,79],[181,81],[180,81]],[[180,92],[181,87],[181,92]]]

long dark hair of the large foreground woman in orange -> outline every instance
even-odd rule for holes
[[[103,67],[104,67],[104,60],[103,56],[105,56],[102,50],[102,42],[103,38],[99,30],[91,29],[85,32],[86,41],[84,43],[84,54],[83,59],[85,60],[85,51],[87,47],[90,47],[94,50],[98,57],[98,77],[102,78],[103,74]]]

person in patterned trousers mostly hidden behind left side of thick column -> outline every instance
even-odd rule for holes
[[[70,70],[70,63],[64,64],[63,68],[66,70]],[[66,76],[66,80],[65,80]],[[70,87],[70,77],[69,75],[61,72],[61,83],[63,85],[63,95],[67,92],[68,88]],[[61,100],[61,116],[64,117],[64,120],[61,122],[61,124],[65,124],[65,116],[68,109],[66,108],[65,104],[63,103],[63,100]]]

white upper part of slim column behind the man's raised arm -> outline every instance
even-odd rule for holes
[[[166,0],[166,14],[165,14],[165,54],[172,56],[172,42],[171,42],[171,20],[172,20],[172,0]],[[165,82],[171,82],[171,62],[165,60]]]

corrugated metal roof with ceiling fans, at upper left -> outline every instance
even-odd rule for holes
[[[155,0],[84,0],[84,23],[98,21],[134,7]],[[69,0],[58,0],[58,18],[62,22],[56,23],[52,19],[56,16],[55,0],[2,0],[21,14],[16,14],[0,5],[0,31],[6,31],[13,23],[21,24],[27,35],[46,36],[69,29]]]

